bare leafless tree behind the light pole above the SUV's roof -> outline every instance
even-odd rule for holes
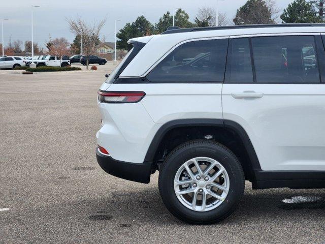
[[[211,7],[200,8],[197,14],[197,18],[205,22],[207,21],[209,26],[215,26],[216,24],[216,10]],[[230,21],[227,18],[226,13],[219,13],[218,15],[218,26],[229,25]]]

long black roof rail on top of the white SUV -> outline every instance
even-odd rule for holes
[[[166,32],[161,35],[174,34],[174,33],[185,33],[185,32],[202,32],[202,31],[216,31],[218,29],[244,29],[244,28],[268,28],[268,27],[325,27],[325,24],[308,24],[308,23],[297,23],[297,24],[247,24],[247,25],[230,25],[230,26],[212,26],[212,27],[194,27],[194,28],[175,28],[167,29]]]

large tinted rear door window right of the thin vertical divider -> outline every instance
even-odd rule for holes
[[[258,83],[318,83],[313,36],[252,38]]]

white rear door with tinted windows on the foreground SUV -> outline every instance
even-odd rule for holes
[[[325,170],[320,34],[231,38],[224,123],[248,134],[262,170]]]

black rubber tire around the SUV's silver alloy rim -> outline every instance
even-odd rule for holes
[[[176,197],[174,178],[186,161],[208,157],[218,161],[228,172],[230,189],[225,200],[210,211],[194,211],[185,207]],[[245,189],[244,172],[234,153],[224,145],[209,140],[192,140],[181,144],[167,156],[159,170],[159,192],[168,210],[178,219],[190,224],[217,223],[236,209]]]

